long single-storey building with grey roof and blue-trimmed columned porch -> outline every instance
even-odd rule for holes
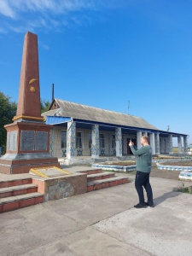
[[[173,154],[173,137],[177,137],[178,154],[182,154],[182,141],[184,153],[188,152],[188,135],[160,131],[145,119],[130,114],[54,99],[43,116],[46,124],[53,125],[49,146],[56,157],[122,157],[131,154],[130,139],[141,147],[143,135],[148,135],[153,154]]]

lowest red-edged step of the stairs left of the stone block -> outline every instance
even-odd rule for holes
[[[42,202],[44,202],[44,195],[38,192],[5,197],[0,199],[0,213],[30,207]]]

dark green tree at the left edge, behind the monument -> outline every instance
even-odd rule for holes
[[[0,92],[0,147],[2,147],[3,154],[6,151],[7,131],[4,125],[13,123],[13,118],[16,115],[17,104],[10,102],[10,97],[5,96]]]

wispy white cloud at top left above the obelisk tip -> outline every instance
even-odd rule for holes
[[[0,0],[0,16],[4,16],[4,19],[1,19],[0,33],[4,31],[24,32],[26,29],[33,31],[35,28],[60,31],[69,23],[81,26],[83,17],[79,17],[79,12],[99,10],[102,1]]]

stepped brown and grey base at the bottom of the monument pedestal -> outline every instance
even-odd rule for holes
[[[32,168],[51,167],[61,168],[58,159],[50,154],[4,154],[0,158],[0,173],[28,173]]]

